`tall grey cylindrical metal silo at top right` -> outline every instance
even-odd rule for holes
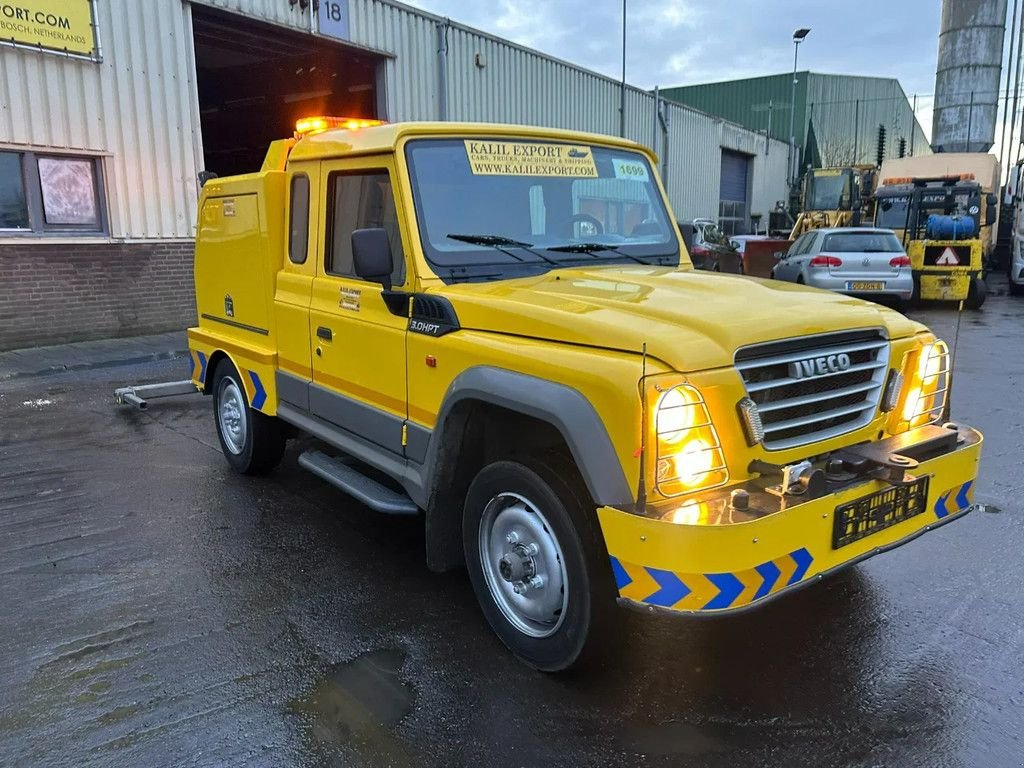
[[[988,152],[1002,66],[1007,0],[943,0],[935,69],[935,152]]]

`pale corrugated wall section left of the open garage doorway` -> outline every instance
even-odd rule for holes
[[[188,237],[196,167],[181,5],[100,0],[97,23],[101,63],[0,48],[0,142],[106,155],[112,234]]]

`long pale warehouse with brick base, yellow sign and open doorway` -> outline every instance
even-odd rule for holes
[[[310,114],[620,132],[620,84],[387,0],[0,0],[0,349],[195,322],[197,175]],[[680,219],[785,195],[785,145],[627,88]]]

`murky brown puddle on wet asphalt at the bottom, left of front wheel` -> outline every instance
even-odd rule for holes
[[[391,729],[413,710],[416,691],[399,679],[406,652],[374,650],[343,664],[290,708],[307,716],[311,735],[328,744],[392,743]]]

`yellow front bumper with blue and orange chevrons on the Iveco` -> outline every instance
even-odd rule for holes
[[[838,507],[892,487],[854,481],[810,501],[751,493],[753,519],[682,524],[602,507],[598,518],[620,602],[677,613],[715,614],[760,605],[840,568],[893,549],[973,508],[981,434],[957,427],[956,447],[922,461],[929,478],[924,511],[835,549]],[[724,502],[723,502],[724,504]],[[745,515],[751,516],[751,513]]]

